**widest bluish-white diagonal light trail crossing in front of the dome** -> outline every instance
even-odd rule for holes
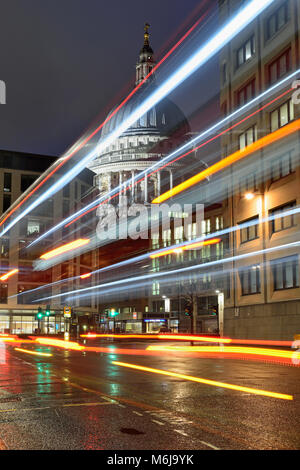
[[[113,132],[103,139],[97,147],[83,157],[72,169],[68,170],[58,181],[49,189],[31,203],[18,216],[13,219],[0,233],[3,236],[10,228],[15,225],[26,214],[31,212],[36,206],[47,200],[54,193],[62,189],[75,176],[85,168],[96,155],[108,147],[125,130],[134,124],[141,116],[149,111],[154,105],[165,98],[171,91],[177,88],[182,82],[190,77],[199,67],[203,66],[210,58],[217,54],[229,41],[239,34],[251,21],[253,21],[261,12],[270,6],[274,0],[252,0],[229,22],[223,26],[208,42],[199,48],[181,67],[177,69],[162,85],[160,85],[136,110],[128,116]]]

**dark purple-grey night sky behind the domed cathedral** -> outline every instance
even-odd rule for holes
[[[7,87],[7,104],[0,106],[0,149],[61,154],[132,89],[144,23],[151,25],[150,44],[160,59],[198,18],[200,4],[0,0],[0,79]],[[172,95],[186,114],[195,103],[217,96],[217,58],[205,73],[190,82],[196,95],[186,86],[177,99]],[[216,103],[217,98],[210,109]]]

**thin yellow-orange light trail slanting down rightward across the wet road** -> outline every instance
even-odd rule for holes
[[[193,377],[191,375],[185,375],[185,374],[178,374],[176,372],[171,372],[171,371],[166,371],[166,370],[161,370],[161,369],[153,369],[152,367],[144,367],[144,366],[139,366],[135,364],[128,364],[127,362],[119,362],[119,361],[112,361],[112,364],[115,364],[117,366],[121,367],[128,367],[129,369],[135,369],[135,370],[141,370],[144,372],[151,372],[153,374],[160,374],[160,375],[166,375],[169,377],[176,377],[179,379],[184,379],[184,380],[189,380],[191,382],[197,382],[205,385],[212,385],[214,387],[222,387],[222,388],[227,388],[229,390],[237,390],[239,392],[244,392],[244,393],[252,393],[254,395],[262,395],[266,397],[272,397],[272,398],[279,398],[281,400],[293,400],[292,395],[286,395],[283,393],[276,393],[276,392],[270,392],[268,390],[259,390],[256,388],[250,388],[250,387],[242,387],[240,385],[234,385],[234,384],[229,384],[226,382],[218,382],[215,380],[209,380],[209,379],[203,379],[200,377]]]

